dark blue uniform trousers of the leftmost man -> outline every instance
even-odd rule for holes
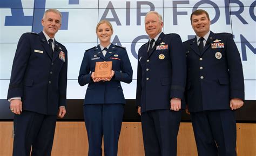
[[[13,156],[51,155],[57,116],[23,111],[14,116]]]

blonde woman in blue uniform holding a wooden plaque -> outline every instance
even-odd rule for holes
[[[116,156],[125,104],[120,82],[132,82],[132,67],[125,48],[110,43],[109,21],[100,21],[96,34],[100,43],[85,51],[78,76],[81,86],[88,84],[84,99],[88,155],[102,156],[104,137],[105,155]]]

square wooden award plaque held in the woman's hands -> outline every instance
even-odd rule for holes
[[[96,78],[109,78],[112,71],[112,61],[96,62],[95,64],[95,77]]]

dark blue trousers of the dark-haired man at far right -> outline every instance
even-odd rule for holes
[[[198,156],[235,156],[237,128],[232,110],[190,114]]]

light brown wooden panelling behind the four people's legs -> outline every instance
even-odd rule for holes
[[[12,122],[0,122],[0,156],[12,155]],[[256,124],[237,124],[238,156],[256,156]],[[87,155],[84,122],[57,122],[52,156]],[[197,155],[191,123],[181,123],[178,156]],[[141,123],[124,122],[118,144],[118,156],[144,156]]]

